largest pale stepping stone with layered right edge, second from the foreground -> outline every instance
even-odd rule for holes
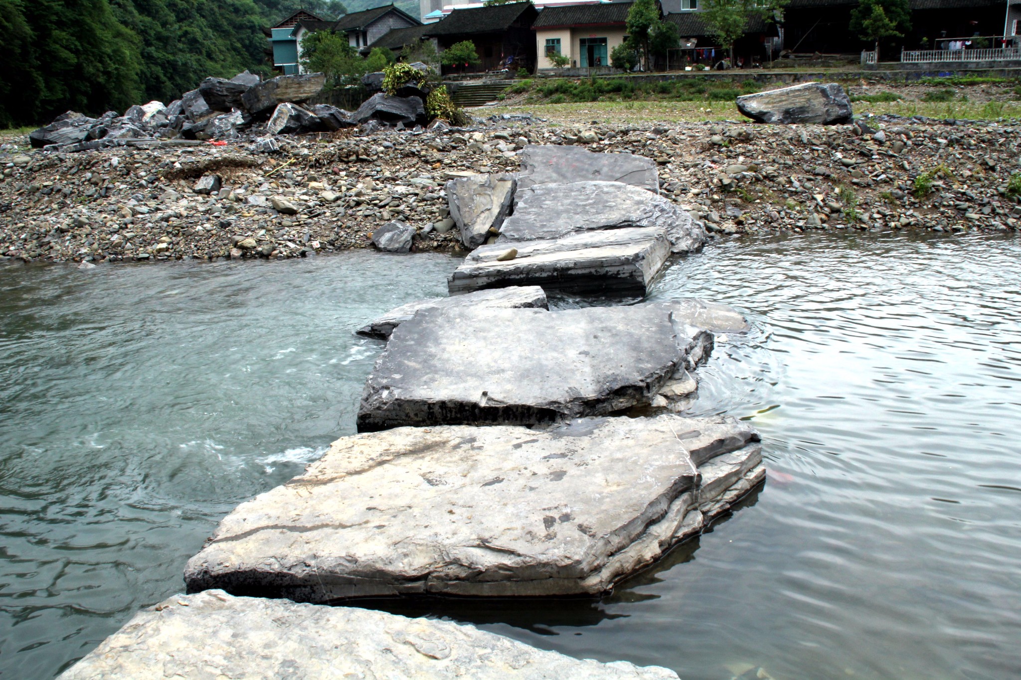
[[[758,440],[672,414],[346,436],[228,515],[185,583],[311,603],[597,596],[760,483]]]

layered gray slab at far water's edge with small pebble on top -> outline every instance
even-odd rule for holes
[[[498,261],[510,244],[482,246],[449,279],[451,295],[504,285],[541,285],[574,293],[645,295],[670,256],[670,239],[657,227],[573,233],[513,244],[517,256]]]

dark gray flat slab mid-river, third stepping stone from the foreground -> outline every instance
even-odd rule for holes
[[[712,336],[668,307],[425,310],[390,336],[358,431],[552,423],[650,404]]]

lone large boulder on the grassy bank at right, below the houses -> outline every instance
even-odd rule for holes
[[[736,104],[756,122],[834,124],[849,122],[852,116],[850,99],[836,83],[805,83],[743,95]]]

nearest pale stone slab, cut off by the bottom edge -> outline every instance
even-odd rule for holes
[[[448,621],[207,590],[139,612],[60,676],[171,677],[676,680],[677,674],[572,659]]]

